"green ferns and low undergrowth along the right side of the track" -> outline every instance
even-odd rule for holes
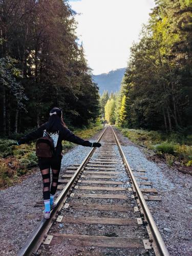
[[[131,141],[156,151],[158,155],[164,155],[169,166],[173,165],[174,161],[192,166],[192,135],[164,134],[159,131],[122,129],[120,127],[118,129]]]

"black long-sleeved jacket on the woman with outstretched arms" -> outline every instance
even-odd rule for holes
[[[44,130],[46,130],[46,123],[42,124],[37,130],[27,134],[25,137],[21,138],[18,141],[18,144],[24,144],[26,142],[29,142],[31,140],[38,139],[44,135]],[[60,155],[62,152],[62,140],[67,140],[73,143],[76,143],[78,145],[82,146],[92,146],[92,143],[88,140],[83,140],[79,137],[77,137],[75,134],[73,134],[69,129],[63,126],[62,130],[59,131],[59,137],[57,141],[57,146],[55,148],[56,155]]]

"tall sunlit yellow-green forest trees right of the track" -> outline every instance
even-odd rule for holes
[[[133,44],[116,95],[104,92],[105,119],[122,127],[191,132],[192,2],[158,0]]]

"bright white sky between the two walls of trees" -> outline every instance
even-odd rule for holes
[[[130,47],[138,41],[154,0],[70,0],[93,74],[126,67]]]

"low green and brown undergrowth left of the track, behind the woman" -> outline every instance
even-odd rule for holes
[[[91,124],[90,127],[74,130],[73,133],[83,139],[88,139],[102,129],[102,125]],[[13,146],[16,140],[0,139],[0,188],[5,188],[19,181],[19,177],[31,172],[37,165],[35,142]],[[66,153],[75,144],[63,141],[63,153]]]

